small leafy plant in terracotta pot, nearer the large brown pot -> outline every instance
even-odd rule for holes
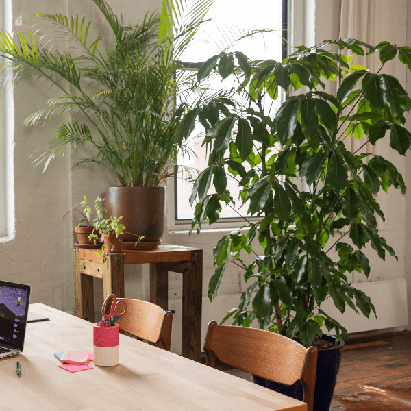
[[[120,253],[121,249],[123,248],[123,235],[124,225],[120,224],[119,221],[123,218],[120,217],[113,217],[110,216],[108,219],[104,218],[103,213],[107,212],[105,208],[101,205],[101,202],[104,199],[97,197],[95,201],[95,210],[97,210],[97,217],[93,220],[95,225],[95,229],[99,234],[101,234],[101,238],[103,238],[104,245],[103,248],[108,253]],[[143,236],[137,236],[138,239],[136,241],[140,242]],[[94,232],[88,236],[89,240],[98,238],[98,234]]]

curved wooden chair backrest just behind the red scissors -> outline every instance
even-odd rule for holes
[[[151,343],[160,343],[162,349],[170,351],[173,314],[149,301],[118,298],[127,304],[127,314],[117,323],[125,332]]]

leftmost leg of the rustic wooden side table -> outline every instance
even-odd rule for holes
[[[77,249],[73,250],[74,258],[74,289],[75,289],[75,316],[81,319],[94,321],[94,290],[93,280],[89,275],[81,273],[80,258]]]

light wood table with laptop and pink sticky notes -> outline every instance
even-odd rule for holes
[[[23,353],[0,360],[1,411],[306,411],[305,403],[120,335],[120,364],[70,373],[55,352],[92,351],[92,324],[43,304]],[[16,360],[21,375],[16,375]]]

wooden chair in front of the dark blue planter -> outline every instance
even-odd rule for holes
[[[304,388],[303,402],[312,411],[316,375],[317,349],[303,347],[290,338],[262,329],[208,323],[206,364],[215,367],[220,361],[242,371],[281,384],[298,380]]]

